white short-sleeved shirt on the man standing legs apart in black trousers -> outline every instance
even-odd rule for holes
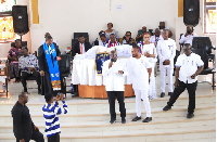
[[[202,67],[204,62],[201,60],[201,56],[191,53],[190,56],[181,54],[178,56],[176,66],[180,67],[179,70],[179,80],[184,83],[193,83],[197,80],[197,76],[192,79],[191,76],[196,73],[197,67]]]

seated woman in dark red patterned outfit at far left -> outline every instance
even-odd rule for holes
[[[20,77],[20,69],[18,69],[18,59],[21,57],[21,40],[16,39],[15,40],[15,46],[11,47],[8,59],[10,61],[10,66],[9,66],[9,77],[10,79],[15,78],[15,82],[21,81]]]

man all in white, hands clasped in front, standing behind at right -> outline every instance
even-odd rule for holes
[[[168,77],[168,95],[171,95],[173,90],[173,74],[174,74],[174,57],[176,56],[176,42],[168,38],[168,29],[162,33],[164,40],[157,42],[157,54],[159,57],[161,70],[161,98],[165,96],[166,75]]]

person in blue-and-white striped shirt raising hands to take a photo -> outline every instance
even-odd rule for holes
[[[64,101],[64,94],[56,95],[55,104],[51,105],[54,102],[54,98],[52,93],[47,93],[44,95],[46,104],[42,107],[43,117],[46,120],[46,130],[44,134],[48,137],[48,142],[60,142],[60,122],[58,115],[67,114],[68,107]],[[63,102],[63,107],[59,106],[59,101]]]

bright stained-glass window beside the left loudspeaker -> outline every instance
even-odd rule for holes
[[[0,0],[0,40],[14,38],[12,7],[16,0]]]

